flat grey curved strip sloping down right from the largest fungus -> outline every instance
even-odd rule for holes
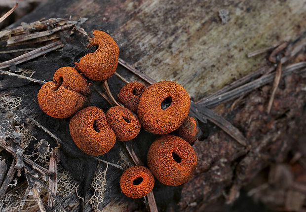
[[[192,111],[192,113],[195,115],[197,119],[201,120],[202,118],[201,116],[207,117],[209,121],[213,122],[218,127],[220,127],[222,130],[224,130],[227,134],[229,134],[229,136],[235,139],[238,143],[240,143],[243,146],[247,145],[247,140],[242,135],[242,133],[236,127],[234,127],[229,121],[227,121],[225,118],[223,118],[219,114],[213,112],[207,107],[197,106],[196,104],[192,102],[191,102],[190,110]]]

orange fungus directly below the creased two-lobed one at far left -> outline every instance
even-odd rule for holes
[[[107,153],[116,141],[103,110],[95,106],[78,111],[70,120],[69,130],[77,147],[93,156]]]

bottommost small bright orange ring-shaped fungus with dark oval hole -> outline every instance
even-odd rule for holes
[[[151,171],[144,166],[132,166],[120,177],[120,188],[123,194],[131,198],[141,198],[150,193],[154,186]]]

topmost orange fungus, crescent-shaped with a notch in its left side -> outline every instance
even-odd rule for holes
[[[107,80],[115,73],[119,49],[115,40],[105,32],[94,30],[87,47],[98,45],[93,53],[88,53],[76,64],[76,69],[92,80]]]

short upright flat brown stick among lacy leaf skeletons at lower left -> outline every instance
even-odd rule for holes
[[[49,171],[54,173],[53,177],[49,177],[49,189],[52,191],[48,193],[48,207],[53,207],[55,204],[55,199],[52,193],[56,196],[57,192],[57,164],[54,157],[50,158]]]

